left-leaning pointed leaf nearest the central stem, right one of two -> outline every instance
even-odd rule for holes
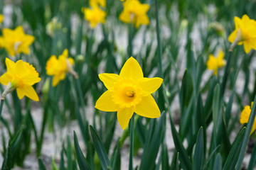
[[[110,159],[107,157],[107,152],[102,143],[102,140],[100,140],[99,135],[97,134],[95,128],[92,127],[92,125],[90,125],[90,132],[92,135],[92,141],[95,146],[95,150],[100,159],[100,164],[102,166],[102,169],[104,169],[104,170],[111,169]]]

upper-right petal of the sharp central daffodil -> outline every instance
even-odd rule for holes
[[[149,92],[149,94],[154,93],[161,86],[163,79],[159,77],[154,78],[142,78],[139,79],[138,83],[143,91]]]

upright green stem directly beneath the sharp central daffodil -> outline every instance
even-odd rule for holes
[[[130,139],[130,146],[129,146],[129,170],[133,169],[133,150],[134,150],[134,114],[129,122],[129,139]]]

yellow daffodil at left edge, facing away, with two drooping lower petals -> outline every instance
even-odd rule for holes
[[[6,58],[6,67],[7,72],[0,77],[0,83],[6,86],[2,99],[5,98],[6,94],[16,89],[19,99],[27,96],[33,101],[39,101],[38,95],[32,87],[33,84],[41,81],[36,69],[28,62],[22,60],[13,62],[9,58]]]

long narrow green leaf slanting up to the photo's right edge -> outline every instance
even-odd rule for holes
[[[239,154],[239,157],[238,157],[238,163],[235,166],[235,170],[241,169],[242,160],[245,156],[245,149],[247,147],[247,143],[248,143],[248,140],[249,140],[249,137],[250,137],[250,132],[252,130],[252,125],[253,125],[254,120],[255,120],[255,115],[256,115],[256,96],[255,96],[255,99],[253,101],[252,111],[250,113],[250,118],[249,118],[249,121],[248,121],[247,126],[246,126],[245,137],[244,137],[244,140],[242,141],[242,147],[241,147],[240,154]]]

